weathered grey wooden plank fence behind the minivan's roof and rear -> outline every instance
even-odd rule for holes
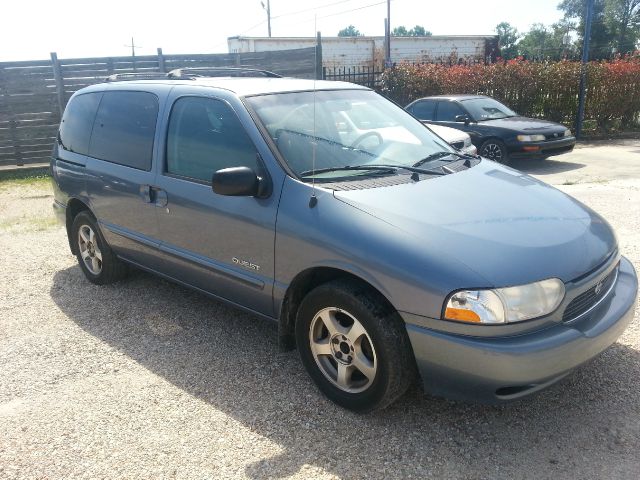
[[[186,67],[247,67],[316,78],[315,47],[275,52],[0,62],[0,166],[48,162],[64,107],[76,91],[114,73]],[[322,63],[320,63],[321,65]]]

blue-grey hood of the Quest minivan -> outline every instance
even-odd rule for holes
[[[522,285],[552,277],[568,282],[616,250],[613,230],[591,209],[484,159],[442,177],[336,191],[334,196],[413,236],[426,252],[464,263],[491,283],[468,287]]]

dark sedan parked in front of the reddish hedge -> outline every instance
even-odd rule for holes
[[[406,110],[424,123],[468,133],[479,155],[500,163],[516,158],[547,158],[570,152],[576,144],[568,128],[522,117],[483,95],[425,97],[407,105]]]

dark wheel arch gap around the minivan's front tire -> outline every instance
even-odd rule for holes
[[[289,284],[282,300],[278,320],[278,344],[281,351],[296,348],[295,322],[302,299],[314,288],[324,283],[346,279],[359,282],[370,288],[390,309],[395,310],[389,299],[364,278],[336,267],[311,267],[298,273]]]

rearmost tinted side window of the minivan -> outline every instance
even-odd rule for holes
[[[85,93],[69,101],[58,133],[58,143],[62,148],[82,155],[89,153],[91,127],[101,97],[102,92]]]

